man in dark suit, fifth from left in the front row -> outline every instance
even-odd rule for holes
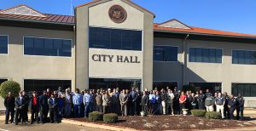
[[[48,99],[49,105],[49,121],[51,123],[57,121],[57,100],[55,99],[54,95],[51,94],[50,98]]]

